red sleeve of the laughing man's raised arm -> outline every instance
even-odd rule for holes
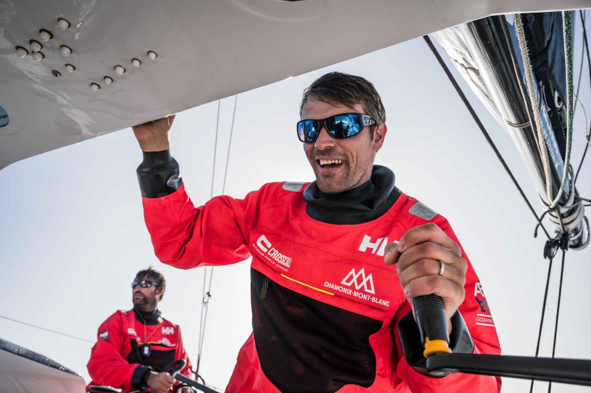
[[[250,256],[246,222],[253,222],[259,191],[245,199],[215,197],[194,207],[184,184],[164,197],[142,197],[144,218],[161,262],[181,269],[233,264]]]

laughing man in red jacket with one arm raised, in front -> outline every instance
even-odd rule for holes
[[[499,342],[447,220],[373,165],[387,134],[374,86],[326,74],[304,91],[300,116],[298,139],[316,181],[265,184],[245,199],[219,196],[200,207],[168,150],[174,115],[134,127],[158,258],[189,269],[252,257],[253,333],[226,392],[499,391],[500,378],[425,371],[412,310],[419,295],[443,299],[454,352],[499,353]]]

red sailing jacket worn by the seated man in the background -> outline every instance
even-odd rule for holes
[[[152,347],[148,358],[139,352],[144,344],[144,327]],[[100,324],[87,365],[92,378],[89,386],[111,386],[122,389],[122,393],[140,391],[146,369],[160,371],[176,359],[186,360],[181,373],[192,378],[191,362],[176,324],[162,319],[158,325],[144,325],[137,320],[134,310],[118,310]]]

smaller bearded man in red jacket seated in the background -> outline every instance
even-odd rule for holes
[[[160,372],[173,360],[186,360],[181,373],[193,378],[180,329],[158,310],[166,281],[150,267],[138,272],[131,288],[134,308],[116,311],[99,327],[87,366],[92,377],[89,386],[111,386],[123,393],[146,388],[165,393],[178,385],[170,374]],[[179,389],[181,393],[193,392],[189,386]]]

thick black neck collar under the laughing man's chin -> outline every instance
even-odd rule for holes
[[[342,193],[323,193],[314,181],[304,190],[306,212],[313,219],[329,224],[360,224],[375,220],[400,196],[394,180],[391,170],[374,165],[370,180]]]

